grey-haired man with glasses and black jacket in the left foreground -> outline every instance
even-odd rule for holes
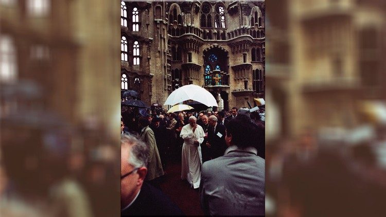
[[[121,136],[121,216],[184,215],[168,196],[144,182],[148,151],[146,144],[136,137]]]

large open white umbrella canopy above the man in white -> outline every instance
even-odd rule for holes
[[[195,100],[208,107],[218,107],[215,97],[205,88],[195,84],[184,85],[173,91],[166,99],[164,105],[175,105],[186,100]]]

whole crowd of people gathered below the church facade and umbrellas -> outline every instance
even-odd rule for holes
[[[160,191],[171,162],[181,163],[181,179],[199,191],[206,215],[264,215],[265,123],[259,114],[236,107],[169,114],[157,107],[143,115],[122,107],[121,215],[182,213]]]

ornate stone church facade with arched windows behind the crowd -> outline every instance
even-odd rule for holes
[[[187,84],[225,110],[265,97],[264,1],[121,2],[120,22],[121,89],[148,105]]]

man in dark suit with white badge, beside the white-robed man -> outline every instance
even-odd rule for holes
[[[208,118],[208,142],[210,158],[215,159],[224,155],[226,149],[225,143],[225,126],[217,123],[216,116],[212,115]]]

